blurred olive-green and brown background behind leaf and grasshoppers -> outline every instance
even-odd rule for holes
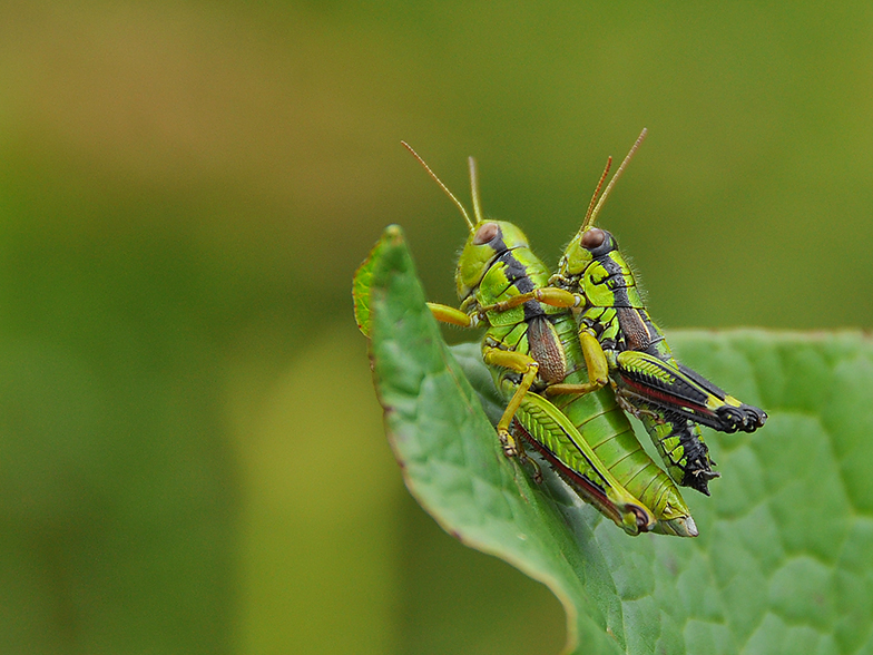
[[[873,322],[873,6],[0,7],[0,652],[555,653],[381,428],[352,273],[601,225],[670,328]],[[462,338],[454,333],[452,339]]]

